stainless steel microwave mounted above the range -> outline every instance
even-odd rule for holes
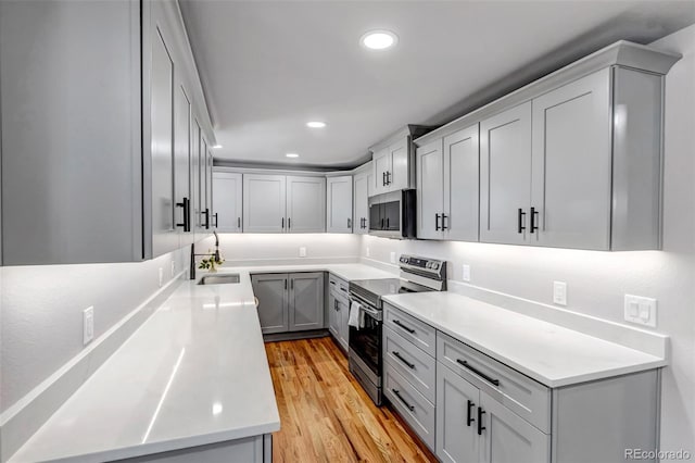
[[[416,190],[401,190],[369,198],[369,235],[413,239],[416,234]]]

